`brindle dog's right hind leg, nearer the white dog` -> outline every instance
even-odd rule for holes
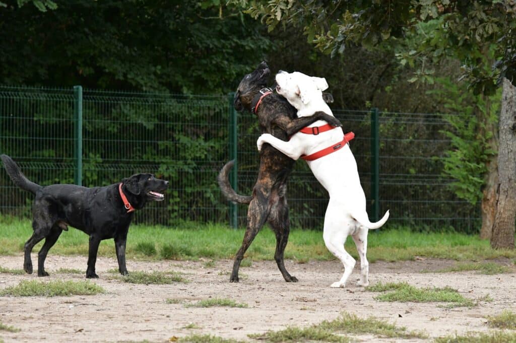
[[[288,242],[290,232],[290,220],[288,219],[288,205],[285,195],[275,195],[276,202],[272,206],[269,215],[269,223],[276,234],[276,253],[274,259],[286,282],[297,282],[295,276],[288,273],[283,260],[283,252]]]

